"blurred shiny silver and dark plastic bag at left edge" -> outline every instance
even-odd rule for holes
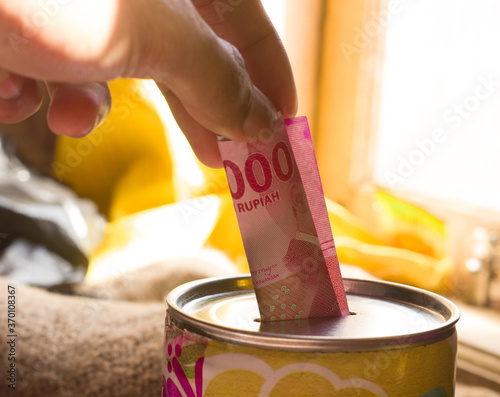
[[[0,135],[0,275],[44,287],[81,281],[105,219],[91,201],[24,166],[14,149]]]

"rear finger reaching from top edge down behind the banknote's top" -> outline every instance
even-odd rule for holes
[[[242,54],[254,84],[284,116],[297,112],[297,93],[283,44],[259,0],[193,0],[200,15]],[[232,5],[231,5],[232,4]]]

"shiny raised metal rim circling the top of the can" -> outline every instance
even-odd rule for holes
[[[167,296],[168,317],[179,328],[222,342],[301,352],[353,352],[373,349],[394,349],[405,346],[422,346],[437,343],[456,332],[455,324],[460,318],[459,310],[453,302],[441,295],[388,281],[355,278],[344,278],[343,280],[346,293],[351,295],[362,295],[402,302],[398,296],[404,292],[406,294],[405,297],[408,297],[408,300],[405,300],[404,303],[423,307],[426,310],[429,309],[442,316],[444,322],[440,326],[430,330],[407,335],[369,338],[315,336],[314,338],[310,338],[302,335],[249,331],[225,327],[195,317],[183,310],[183,307],[187,303],[195,299],[207,297],[214,290],[223,291],[224,293],[253,290],[252,280],[249,275],[207,278],[176,287]]]

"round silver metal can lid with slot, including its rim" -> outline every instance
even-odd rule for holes
[[[390,282],[344,279],[351,315],[261,322],[249,276],[184,284],[167,297],[169,317],[206,337],[268,349],[365,351],[436,343],[455,332],[448,299]]]

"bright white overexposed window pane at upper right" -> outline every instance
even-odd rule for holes
[[[500,213],[500,3],[400,3],[385,34],[374,180]]]

